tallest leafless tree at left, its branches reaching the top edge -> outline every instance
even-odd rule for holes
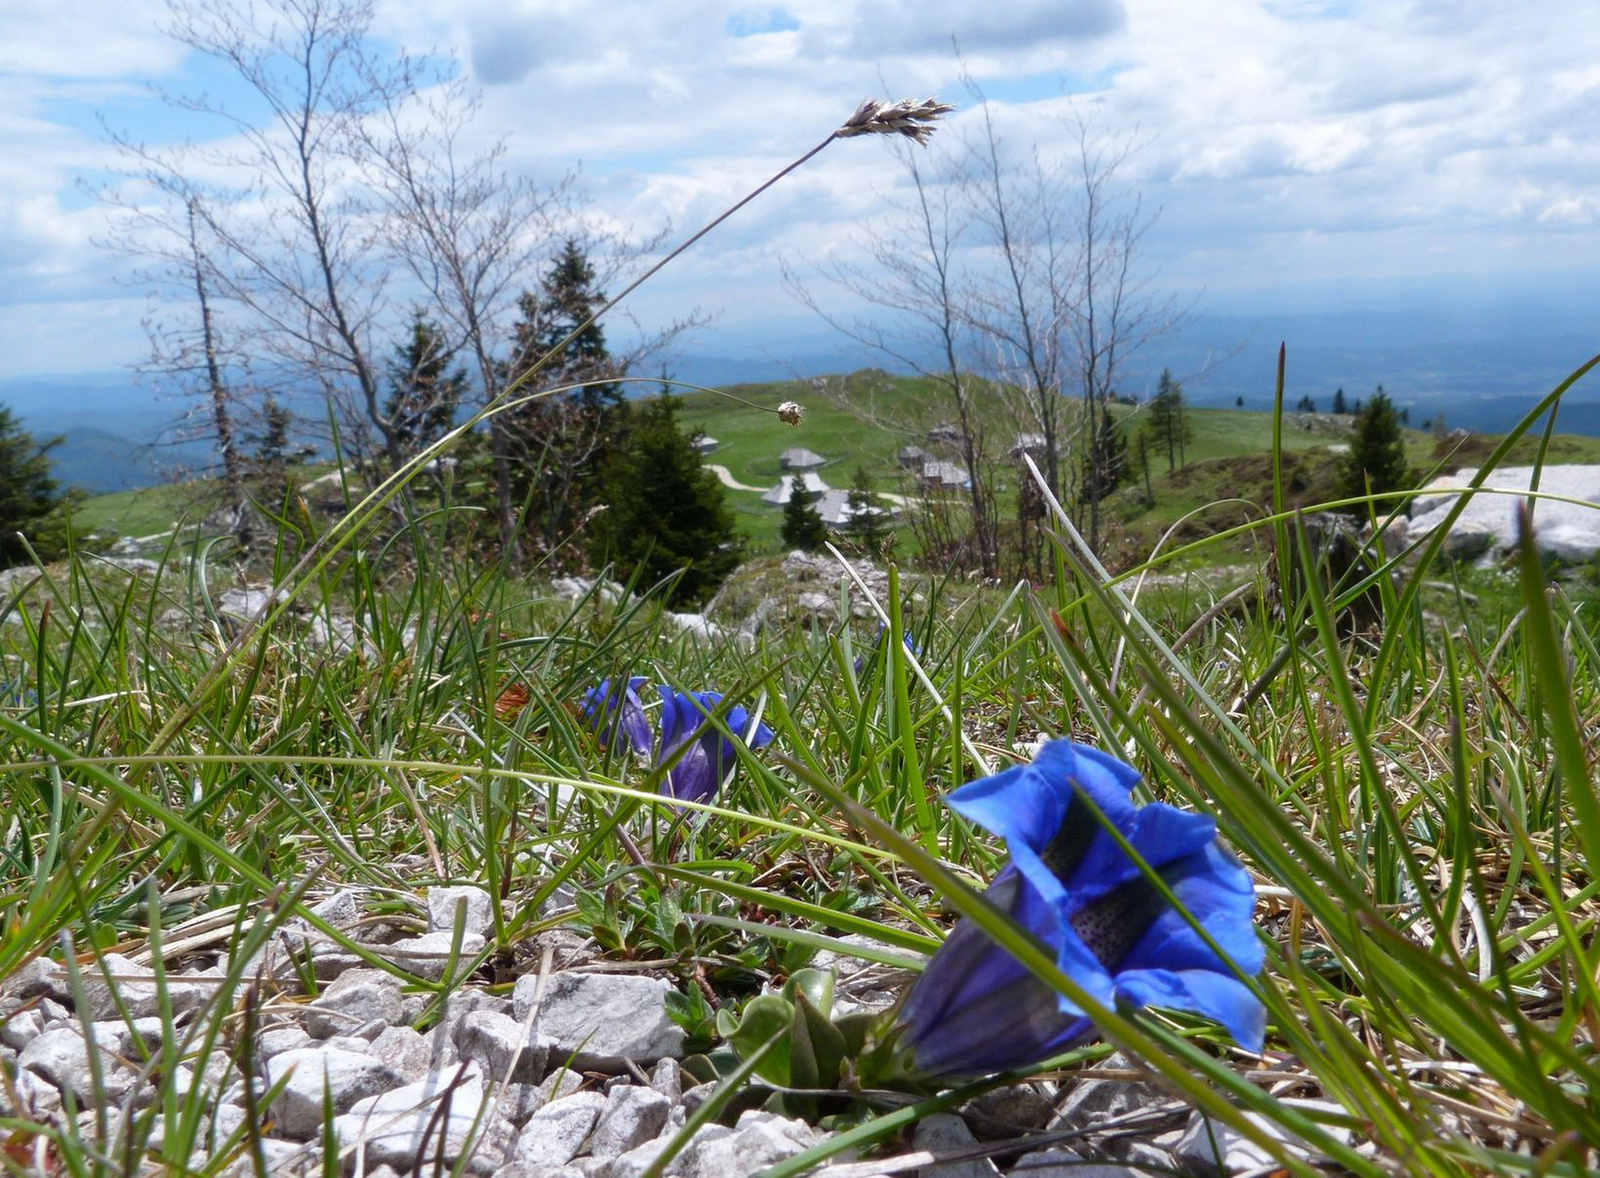
[[[245,83],[250,102],[168,96],[230,134],[146,155],[176,176],[221,178],[195,205],[218,246],[218,293],[248,314],[262,352],[346,410],[358,455],[371,456],[360,442],[371,429],[398,466],[373,343],[390,307],[386,243],[362,174],[363,126],[410,101],[422,67],[368,45],[370,0],[170,0],[170,34]]]

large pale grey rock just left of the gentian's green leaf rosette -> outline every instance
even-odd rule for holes
[[[525,1020],[538,986],[523,975],[512,992],[518,1021]],[[574,1058],[582,1071],[621,1072],[627,1063],[654,1064],[682,1058],[683,1029],[667,1016],[672,986],[654,978],[614,973],[552,973],[539,1004],[539,1034],[550,1040],[550,1058]]]

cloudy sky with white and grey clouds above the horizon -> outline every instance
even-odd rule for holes
[[[229,93],[163,11],[0,5],[0,378],[144,352],[146,294],[96,246],[101,120],[205,136],[150,86]],[[1010,141],[1061,150],[1077,102],[1146,142],[1146,261],[1208,311],[1600,307],[1594,0],[378,0],[374,30],[456,54],[483,141],[533,176],[581,165],[597,213],[640,232],[694,227],[866,94],[938,93],[963,107],[941,134],[970,133],[955,38]],[[848,254],[901,182],[886,144],[835,142],[635,311],[718,315],[693,346],[720,355],[814,338],[781,262]]]

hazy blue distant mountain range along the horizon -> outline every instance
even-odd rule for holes
[[[1242,400],[1245,408],[1267,410],[1278,341],[1286,341],[1290,405],[1310,395],[1318,407],[1328,407],[1336,387],[1354,400],[1382,384],[1410,408],[1413,424],[1443,415],[1450,426],[1501,432],[1600,351],[1600,336],[1586,336],[1573,323],[1571,314],[1541,317],[1526,307],[1515,314],[1478,307],[1454,314],[1200,315],[1128,357],[1118,387],[1147,397],[1160,371],[1170,368],[1195,405]],[[736,354],[707,349],[678,357],[667,365],[670,376],[686,384],[726,386],[894,368],[882,355],[851,351],[826,331],[723,335],[722,343],[736,344]],[[638,394],[650,389],[642,384]],[[302,400],[309,418],[322,416],[320,399]],[[62,435],[53,451],[58,477],[90,491],[168,482],[214,461],[203,443],[154,445],[189,405],[157,399],[130,373],[3,379],[0,403],[16,410],[37,435]],[[1600,435],[1600,375],[1573,387],[1557,427]]]

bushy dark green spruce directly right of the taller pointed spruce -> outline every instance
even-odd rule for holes
[[[733,511],[717,475],[701,464],[694,437],[678,429],[677,399],[658,397],[632,415],[627,443],[605,471],[608,511],[590,531],[590,552],[624,576],[653,584],[685,570],[675,602],[699,605],[741,557]]]

